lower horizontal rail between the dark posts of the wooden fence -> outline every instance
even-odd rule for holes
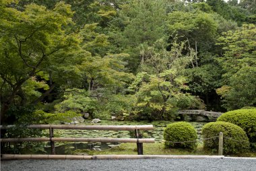
[[[121,139],[121,138],[7,138],[0,139],[0,142],[24,142],[24,141],[65,141],[65,142],[103,142],[103,143],[154,143],[155,139]]]

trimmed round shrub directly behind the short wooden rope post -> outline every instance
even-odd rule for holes
[[[203,147],[213,152],[218,151],[218,135],[223,133],[223,153],[243,153],[249,149],[249,140],[245,131],[232,123],[213,122],[203,126]],[[208,139],[216,137],[213,139]]]

